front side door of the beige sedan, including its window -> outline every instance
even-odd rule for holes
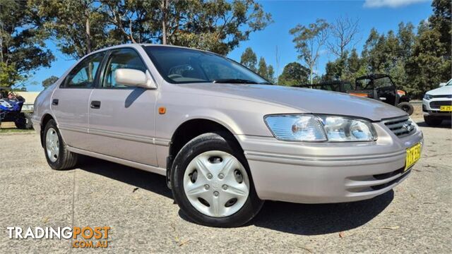
[[[120,159],[157,165],[155,155],[155,102],[157,90],[116,83],[114,71],[147,71],[132,48],[113,49],[107,56],[97,89],[90,97],[90,150]]]

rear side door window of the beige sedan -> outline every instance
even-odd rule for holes
[[[99,69],[100,63],[104,58],[105,53],[100,52],[88,56],[86,59],[78,63],[67,75],[64,81],[64,87],[69,88],[91,88],[94,87],[94,82]]]

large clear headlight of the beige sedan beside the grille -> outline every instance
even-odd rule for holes
[[[303,142],[374,141],[369,121],[343,116],[313,114],[268,115],[264,118],[275,138]]]

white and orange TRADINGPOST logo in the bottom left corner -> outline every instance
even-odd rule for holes
[[[72,239],[72,248],[107,248],[110,229],[109,226],[6,227],[10,239]]]

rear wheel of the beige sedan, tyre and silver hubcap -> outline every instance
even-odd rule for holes
[[[54,120],[47,122],[43,135],[44,154],[49,166],[56,170],[73,168],[77,163],[78,155],[69,152]]]

